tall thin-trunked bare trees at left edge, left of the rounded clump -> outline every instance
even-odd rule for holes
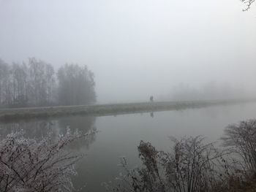
[[[53,66],[35,58],[23,64],[0,61],[0,104],[26,107],[52,103],[54,75]]]

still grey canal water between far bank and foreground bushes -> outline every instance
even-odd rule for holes
[[[170,150],[168,136],[184,137],[203,135],[208,141],[216,141],[223,128],[230,123],[256,118],[256,104],[236,104],[201,109],[154,112],[108,117],[73,116],[56,120],[31,120],[20,123],[2,123],[0,136],[23,128],[27,137],[42,137],[48,131],[54,135],[64,133],[67,126],[80,131],[97,130],[94,137],[76,142],[72,150],[85,153],[78,162],[78,176],[74,185],[83,191],[104,191],[102,182],[114,180],[121,171],[119,157],[126,156],[129,166],[140,164],[137,146],[140,140],[151,142],[159,150]]]

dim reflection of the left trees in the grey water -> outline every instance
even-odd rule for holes
[[[12,131],[20,131],[21,129],[25,132],[28,138],[42,138],[52,133],[52,137],[56,138],[59,134],[65,134],[67,128],[71,131],[81,131],[83,134],[89,131],[97,131],[95,126],[95,117],[82,117],[82,116],[70,116],[59,119],[40,119],[30,121],[20,121],[16,123],[1,123],[0,124],[0,139],[3,139],[10,134]],[[96,139],[96,134],[90,134],[86,139],[80,139],[77,142],[72,143],[69,147],[75,150],[86,147],[93,143]]]

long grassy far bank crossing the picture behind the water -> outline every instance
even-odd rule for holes
[[[0,120],[15,120],[27,118],[49,118],[64,115],[118,115],[138,112],[156,112],[165,110],[183,110],[212,105],[240,104],[256,102],[256,99],[229,99],[211,101],[161,101],[140,102],[127,104],[94,104],[80,106],[59,107],[27,107],[15,109],[1,109]]]

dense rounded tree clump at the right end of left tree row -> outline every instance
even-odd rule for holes
[[[58,71],[59,104],[90,104],[96,101],[94,74],[86,66],[65,64]]]

